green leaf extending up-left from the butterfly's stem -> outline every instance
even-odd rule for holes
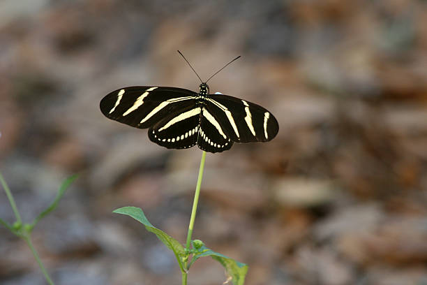
[[[145,217],[144,212],[139,207],[121,207],[119,209],[114,210],[113,213],[127,214],[129,217],[132,217],[133,219],[143,224],[145,228],[147,228],[147,231],[157,235],[157,238],[161,242],[163,242],[168,249],[174,251],[175,257],[177,258],[177,261],[179,263],[179,268],[181,268],[182,272],[186,272],[183,266],[183,259],[186,258],[186,256],[188,255],[186,254],[186,251],[183,246],[170,235],[167,235],[167,233],[165,233],[164,231],[161,231],[155,226],[153,226],[149,222],[147,217]]]

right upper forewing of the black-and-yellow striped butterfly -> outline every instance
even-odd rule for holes
[[[221,123],[223,132],[234,142],[267,142],[278,133],[276,118],[255,103],[214,94],[207,98],[206,109]]]

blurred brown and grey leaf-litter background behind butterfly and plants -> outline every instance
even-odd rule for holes
[[[0,171],[24,221],[80,177],[33,240],[56,284],[180,284],[172,252],[117,207],[185,242],[197,147],[105,118],[129,85],[258,103],[268,143],[208,154],[193,238],[248,263],[248,285],[427,284],[427,1],[0,1]],[[0,217],[13,212],[0,191]],[[202,258],[189,284],[222,284]],[[42,285],[0,228],[0,284]]]

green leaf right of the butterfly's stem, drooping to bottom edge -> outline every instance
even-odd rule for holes
[[[216,260],[221,263],[221,265],[223,265],[223,267],[227,271],[227,274],[230,275],[230,277],[232,278],[232,282],[234,285],[243,285],[245,283],[246,273],[248,273],[248,265],[235,261],[233,258],[230,258],[223,254],[218,254],[218,252],[208,249],[204,245],[200,246],[200,241],[197,242],[197,240],[193,240],[192,244],[193,258],[190,262],[190,265],[188,265],[188,269],[193,263],[195,263],[195,261],[197,261],[198,258],[204,256],[211,256],[213,260]]]

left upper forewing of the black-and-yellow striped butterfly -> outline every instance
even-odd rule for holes
[[[100,101],[100,110],[105,117],[146,129],[190,108],[196,96],[193,91],[175,87],[125,87],[107,94]]]

